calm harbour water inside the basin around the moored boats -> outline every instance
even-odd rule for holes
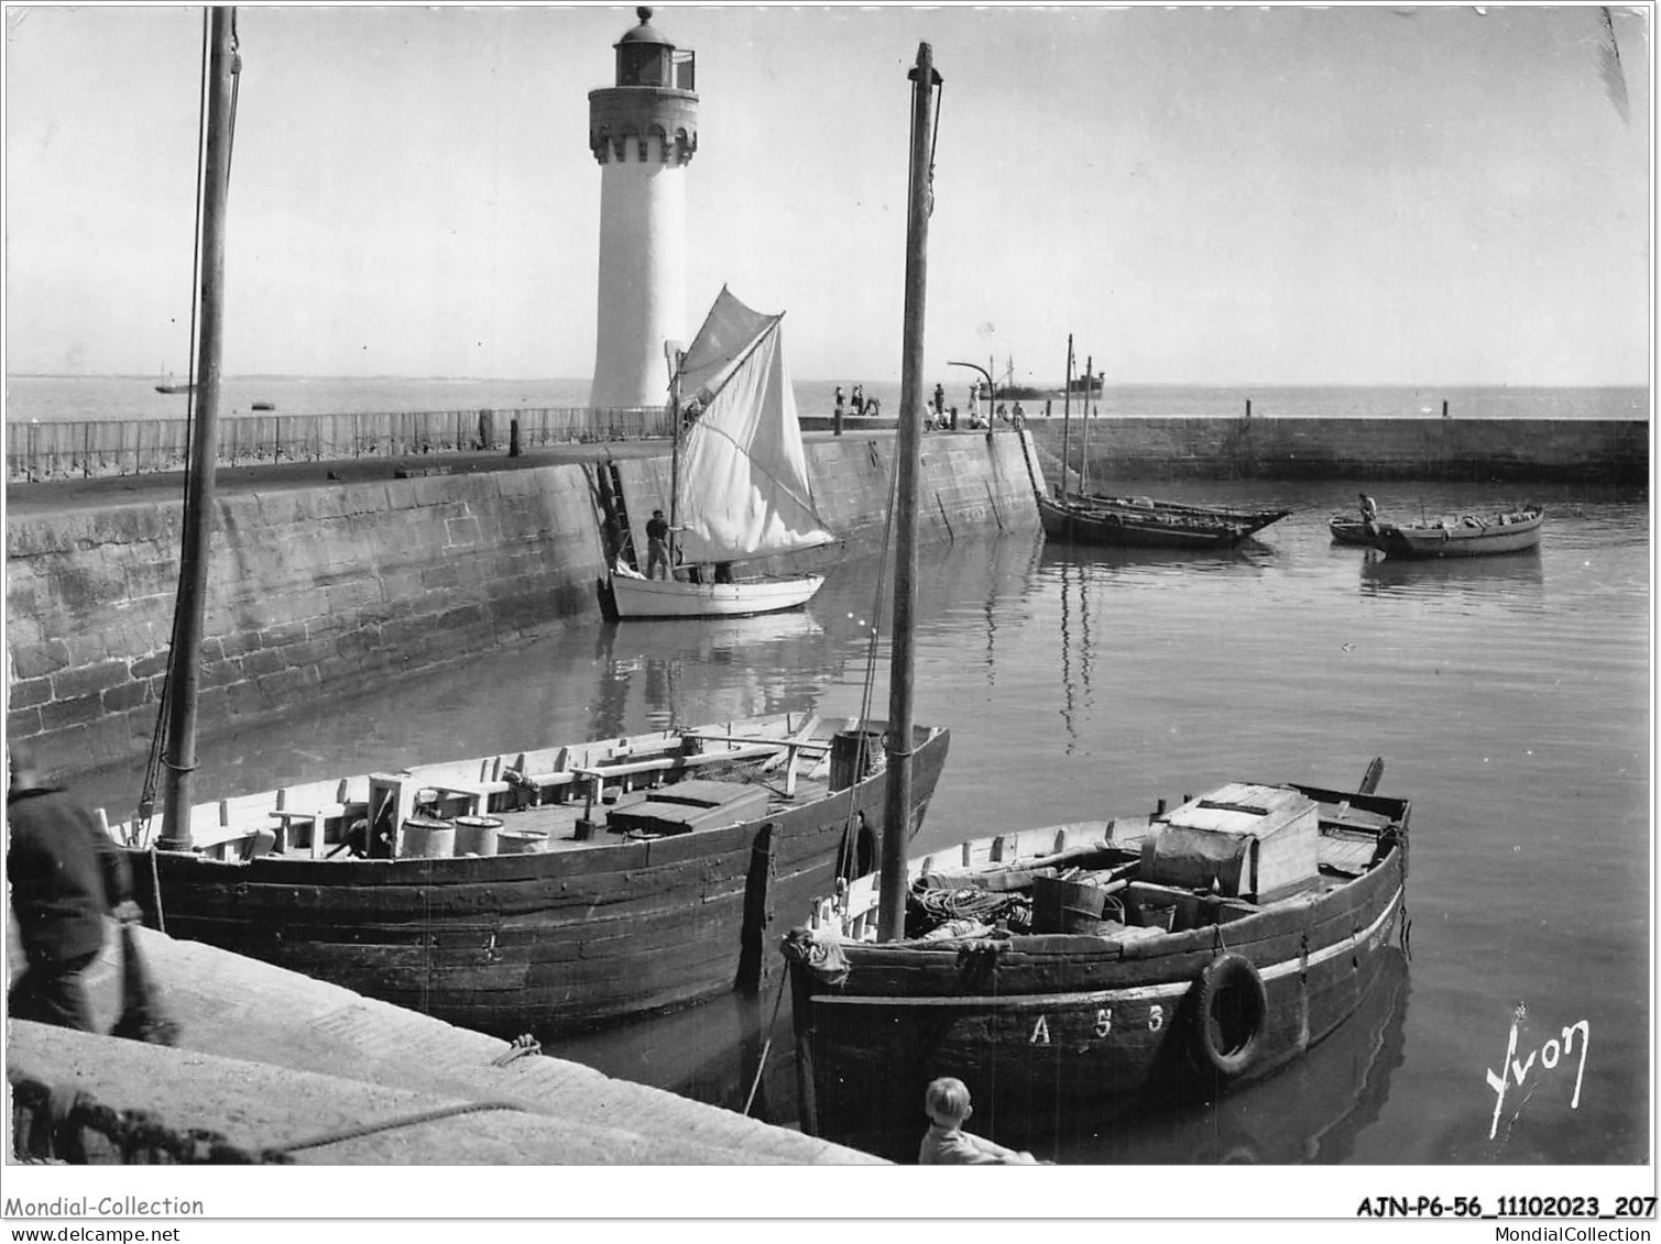
[[[919,722],[952,726],[922,846],[1141,813],[1232,778],[1345,786],[1379,755],[1414,799],[1412,962],[1339,1037],[1211,1108],[1075,1140],[1061,1161],[1636,1163],[1649,1085],[1649,514],[1633,491],[1370,489],[1385,516],[1548,508],[1538,552],[1395,564],[1332,546],[1357,488],[1159,486],[1296,514],[1216,557],[930,551]],[[857,712],[877,564],[811,609],[728,624],[571,627],[382,695],[204,740],[203,790],[257,790],[465,751],[757,712]],[[884,652],[885,660],[885,652]],[[879,713],[887,705],[879,665]],[[136,778],[91,791],[130,809]],[[782,929],[781,929],[782,932]],[[721,1000],[565,1057],[794,1120],[789,1008]],[[1531,1063],[1495,1125],[1485,1071]],[[1580,1080],[1578,1105],[1571,1105]],[[1497,1126],[1493,1140],[1490,1128]]]

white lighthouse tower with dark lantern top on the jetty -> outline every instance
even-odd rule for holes
[[[636,8],[616,85],[588,93],[600,161],[600,332],[595,408],[663,406],[666,342],[686,338],[686,166],[698,151],[696,58]]]

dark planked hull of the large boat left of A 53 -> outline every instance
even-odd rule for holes
[[[917,730],[910,833],[947,745],[947,731]],[[772,912],[784,919],[827,892],[849,851],[869,858],[885,798],[879,770],[726,828],[644,841],[601,833],[532,854],[128,856],[146,916],[174,937],[463,1028],[548,1038],[757,989],[776,962],[764,954]]]

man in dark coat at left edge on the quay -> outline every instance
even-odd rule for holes
[[[18,748],[5,818],[12,912],[28,959],[7,992],[7,1013],[91,1032],[80,977],[103,949],[105,912],[140,916],[126,859],[93,814],[50,786]]]

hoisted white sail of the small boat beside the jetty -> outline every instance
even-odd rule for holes
[[[681,365],[696,415],[681,451],[676,518],[688,562],[729,562],[830,544],[807,484],[779,323],[726,287]]]

